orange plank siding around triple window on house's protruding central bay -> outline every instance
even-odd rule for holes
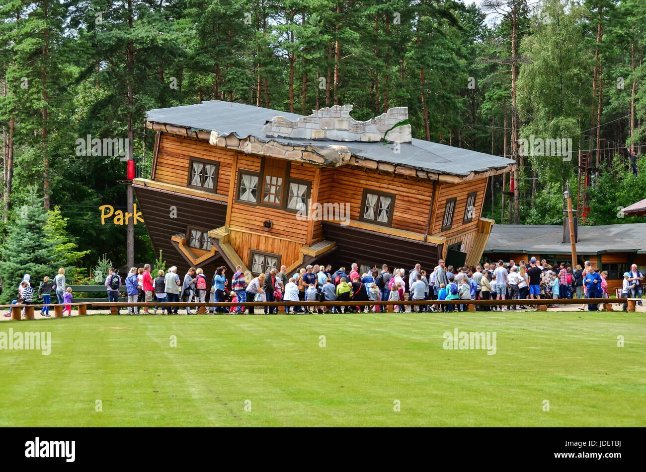
[[[260,158],[240,155],[238,157],[238,170],[242,169],[260,172]],[[313,166],[292,164],[289,175],[293,179],[312,182],[314,180],[314,171],[315,168]],[[236,171],[236,190],[238,186],[237,177],[238,172]],[[260,190],[259,188],[258,191],[260,192]],[[285,192],[284,198],[287,198],[287,188]],[[273,228],[271,230],[267,230],[263,226],[266,220],[273,222]],[[233,202],[231,205],[231,221],[229,221],[229,227],[234,230],[253,231],[267,236],[291,239],[292,241],[306,244],[309,221],[298,221],[295,213],[290,213],[280,208]],[[245,257],[242,253],[238,253],[238,255],[243,258]]]

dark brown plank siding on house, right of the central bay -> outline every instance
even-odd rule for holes
[[[388,237],[379,233],[359,230],[350,226],[323,223],[325,239],[337,242],[337,250],[317,263],[332,264],[333,270],[345,266],[348,271],[352,262],[388,264],[390,268],[404,268],[406,273],[419,263],[422,269],[433,270],[439,260],[438,246]]]

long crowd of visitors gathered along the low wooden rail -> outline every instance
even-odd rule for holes
[[[560,264],[547,263],[545,259],[538,262],[532,257],[529,262],[485,263],[475,267],[446,266],[440,260],[428,273],[416,264],[408,271],[403,268],[389,268],[384,264],[381,270],[373,265],[365,273],[359,274],[359,265],[351,265],[349,273],[341,267],[332,271],[332,266],[320,264],[308,265],[295,273],[287,273],[287,267],[281,266],[280,271],[270,268],[247,283],[247,277],[242,267],[236,267],[233,275],[227,275],[227,268],[220,266],[216,269],[211,283],[207,280],[202,268],[191,267],[183,279],[177,273],[176,266],[167,272],[159,270],[152,277],[150,264],[143,268],[130,268],[125,276],[125,288],[128,302],[156,302],[158,306],[153,314],[161,310],[161,314],[177,314],[178,306],[164,305],[167,302],[284,302],[286,313],[347,313],[357,311],[379,312],[388,309],[387,306],[370,305],[333,306],[326,307],[320,302],[334,301],[392,301],[395,312],[411,311],[463,311],[466,300],[518,300],[517,304],[492,304],[491,306],[477,305],[478,311],[506,311],[534,308],[537,302],[544,299],[601,299],[609,298],[606,278],[607,271],[599,273],[590,261],[584,266],[572,268],[568,262]],[[109,269],[105,278],[105,287],[110,302],[118,302],[122,286],[121,276],[114,268]],[[636,264],[632,264],[629,272],[623,274],[622,297],[641,299],[643,273]],[[406,288],[408,287],[408,291]],[[61,268],[58,275],[50,280],[45,277],[40,283],[37,295],[43,299],[43,304],[50,304],[50,295],[56,291],[59,304],[65,304],[65,311],[71,315],[72,288],[65,288],[65,269]],[[30,283],[30,275],[25,274],[18,286],[18,298],[12,304],[30,304],[35,293]],[[406,301],[428,301],[428,304],[408,305]],[[433,303],[437,300],[455,300],[452,304]],[[292,303],[290,303],[292,302]],[[295,302],[307,302],[307,306],[295,306]],[[311,302],[311,304],[309,304]],[[546,304],[546,302],[541,302]],[[641,300],[639,302],[641,305]],[[552,304],[551,306],[557,306]],[[583,304],[579,310],[598,310],[596,304]],[[264,306],[264,313],[274,313],[274,306]],[[624,304],[623,309],[626,309]],[[185,308],[187,314],[192,314],[191,308]],[[231,308],[215,308],[211,313],[254,313],[254,308],[232,306]],[[276,309],[276,312],[278,310]],[[118,311],[119,312],[119,311]],[[207,307],[207,312],[209,312]],[[148,307],[143,307],[143,314],[149,314]],[[44,306],[41,314],[49,317],[49,307]],[[128,307],[127,314],[139,315],[138,307]],[[5,316],[10,316],[10,312]]]

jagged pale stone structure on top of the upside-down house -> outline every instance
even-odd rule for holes
[[[352,105],[335,105],[291,121],[276,116],[267,123],[262,132],[267,137],[294,139],[322,139],[326,141],[378,142],[382,139],[393,143],[410,143],[410,124],[399,124],[408,120],[408,107],[390,108],[388,112],[368,121],[357,121],[350,116]],[[399,124],[399,126],[395,126]]]

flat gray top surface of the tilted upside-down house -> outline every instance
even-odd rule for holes
[[[146,117],[148,121],[154,123],[190,127],[207,132],[216,130],[218,134],[224,136],[233,133],[238,138],[245,138],[251,135],[262,141],[272,139],[278,143],[299,146],[347,146],[353,155],[360,158],[399,164],[428,172],[459,176],[466,176],[472,172],[479,173],[487,172],[491,169],[503,169],[516,162],[504,157],[455,148],[445,144],[430,143],[421,139],[413,139],[412,143],[402,143],[401,152],[395,154],[393,144],[384,146],[382,142],[360,143],[324,139],[266,137],[262,133],[262,127],[276,115],[286,117],[292,121],[302,116],[296,113],[280,112],[270,108],[260,108],[242,103],[207,101],[195,105],[150,110]]]

